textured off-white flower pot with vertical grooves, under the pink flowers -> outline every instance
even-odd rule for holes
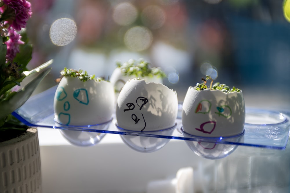
[[[0,143],[0,192],[41,192],[37,129]]]

